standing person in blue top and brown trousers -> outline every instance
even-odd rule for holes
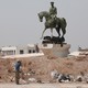
[[[15,62],[15,65],[14,65],[14,67],[15,67],[15,84],[16,85],[19,85],[19,79],[20,79],[20,67],[22,66],[22,64],[21,64],[21,61],[16,61]]]

